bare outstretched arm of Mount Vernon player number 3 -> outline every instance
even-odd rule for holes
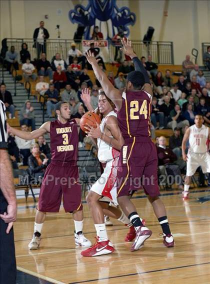
[[[21,131],[19,129],[13,128],[9,126],[9,124],[7,123],[7,131],[9,133],[12,133],[25,140],[32,140],[38,138],[44,133],[49,132],[49,130],[50,130],[50,121],[44,122],[38,129],[35,129],[31,132]]]

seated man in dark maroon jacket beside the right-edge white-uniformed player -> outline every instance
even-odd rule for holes
[[[177,157],[175,153],[168,147],[166,147],[166,139],[164,136],[160,136],[158,139],[159,145],[156,147],[157,149],[157,157],[158,157],[158,166],[164,165],[167,171],[167,174],[171,174],[172,176],[179,176],[179,180],[182,183],[182,176],[179,169],[179,165],[175,164]],[[183,189],[183,185],[178,185],[179,189]]]

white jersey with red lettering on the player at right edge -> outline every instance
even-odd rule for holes
[[[202,125],[197,128],[194,125],[189,127],[189,151],[193,153],[204,153],[207,150],[206,141],[208,138],[208,127]]]

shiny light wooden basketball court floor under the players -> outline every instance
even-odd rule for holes
[[[14,224],[17,284],[46,283],[184,283],[210,282],[210,189],[191,189],[190,199],[182,201],[180,191],[162,192],[175,247],[167,248],[159,236],[161,228],[144,194],[132,199],[146,219],[152,236],[142,249],[130,252],[124,242],[127,228],[117,220],[107,227],[116,251],[109,255],[82,257],[73,241],[73,220],[64,213],[47,214],[41,247],[28,251],[33,232],[35,205],[18,202]],[[84,232],[94,242],[95,230],[86,204]]]

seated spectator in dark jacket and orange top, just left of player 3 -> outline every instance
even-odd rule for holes
[[[31,144],[30,147],[31,154],[28,157],[28,171],[30,175],[34,178],[43,177],[48,158],[39,151],[39,146],[37,143]]]

